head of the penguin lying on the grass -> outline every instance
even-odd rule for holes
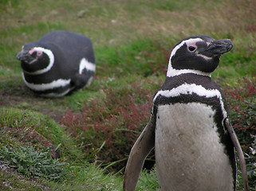
[[[23,72],[29,74],[47,72],[54,63],[53,52],[34,43],[24,45],[17,59],[21,61]]]

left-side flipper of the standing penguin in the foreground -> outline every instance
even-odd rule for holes
[[[144,131],[132,146],[124,172],[124,191],[136,189],[144,160],[155,146],[155,124],[152,115]]]

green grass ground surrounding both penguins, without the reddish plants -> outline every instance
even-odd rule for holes
[[[68,131],[70,127],[61,124],[61,119],[68,115],[68,111],[73,116],[83,115],[85,108],[96,112],[99,108],[93,103],[104,103],[103,107],[114,108],[115,112],[109,108],[104,111],[100,119],[104,122],[102,124],[109,126],[111,120],[116,118],[120,119],[120,126],[124,128],[129,123],[123,123],[123,107],[117,107],[117,104],[116,108],[113,107],[115,98],[124,99],[125,103],[132,100],[130,97],[133,95],[136,104],[143,103],[144,99],[136,96],[140,88],[152,99],[165,79],[172,47],[184,37],[192,35],[204,34],[216,40],[230,38],[233,41],[234,48],[223,55],[212,77],[223,88],[227,85],[225,94],[230,107],[240,106],[238,112],[232,110],[232,120],[240,123],[240,119],[248,117],[243,126],[246,128],[249,121],[250,128],[254,129],[254,113],[243,115],[243,111],[254,112],[254,107],[250,106],[254,106],[255,100],[242,96],[242,101],[234,101],[232,95],[237,90],[245,91],[241,83],[244,77],[254,83],[255,8],[256,3],[251,0],[0,0],[0,148],[9,146],[11,152],[18,152],[33,146],[37,154],[44,153],[47,148],[50,148],[47,151],[49,154],[56,154],[53,151],[58,148],[61,156],[57,160],[65,162],[68,174],[63,181],[55,182],[38,176],[26,177],[10,166],[1,165],[0,189],[121,190],[123,172],[114,173],[111,168],[103,170],[99,167],[102,162],[100,155],[104,155],[102,153],[107,149],[108,142],[102,140],[91,154],[85,154],[85,145],[91,142],[83,142],[82,137],[73,137]],[[25,87],[16,55],[22,45],[37,41],[53,30],[81,33],[93,41],[96,76],[91,87],[86,90],[64,98],[43,99]],[[112,99],[108,96],[112,96]],[[247,99],[253,104],[244,102]],[[136,104],[130,104],[130,108],[124,107],[125,116],[131,114],[129,109]],[[131,115],[128,119],[136,120],[133,117]],[[141,126],[147,120],[143,119]],[[93,125],[89,119],[87,123]],[[246,130],[246,136],[253,134],[251,132]],[[250,154],[253,146],[252,142],[245,142],[243,147],[250,157],[246,159],[252,166],[250,170],[254,164],[253,155]],[[124,154],[125,157],[127,155]],[[113,163],[107,166],[112,167]],[[241,178],[238,185],[241,185]],[[239,186],[238,190],[242,190]],[[140,176],[137,190],[156,190],[157,187],[156,170],[145,170]]]

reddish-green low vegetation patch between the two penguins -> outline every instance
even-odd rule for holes
[[[118,92],[109,88],[104,94],[104,99],[91,100],[79,114],[69,111],[61,123],[77,142],[83,142],[86,154],[91,154],[105,142],[97,159],[115,162],[128,156],[148,122],[152,92],[134,83]]]

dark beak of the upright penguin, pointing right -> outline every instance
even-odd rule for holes
[[[215,55],[222,55],[227,53],[233,48],[232,41],[229,39],[222,39],[219,41],[211,41],[207,47],[207,52],[213,53]]]

